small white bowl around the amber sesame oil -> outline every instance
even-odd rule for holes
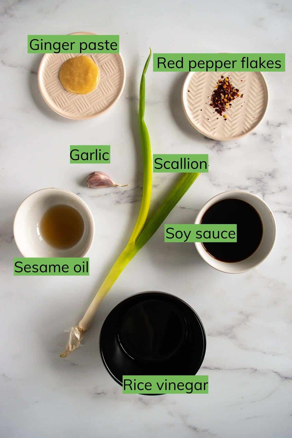
[[[65,204],[76,208],[84,220],[84,232],[74,247],[54,248],[42,239],[39,223],[53,205]],[[16,212],[13,233],[15,243],[24,257],[84,257],[91,247],[95,225],[88,206],[76,194],[63,189],[46,188],[29,195]]]

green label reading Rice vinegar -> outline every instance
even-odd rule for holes
[[[123,394],[208,393],[208,376],[123,376]]]

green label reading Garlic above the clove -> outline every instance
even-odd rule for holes
[[[70,145],[70,163],[110,163],[110,145]]]

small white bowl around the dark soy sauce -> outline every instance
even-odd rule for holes
[[[209,199],[205,205],[198,212],[195,224],[201,223],[204,213],[215,204],[215,202],[222,201],[222,199],[241,199],[242,201],[248,202],[253,206],[260,215],[263,223],[263,237],[260,241],[259,246],[256,251],[250,255],[250,257],[242,260],[236,261],[234,263],[229,263],[225,261],[218,260],[212,257],[205,249],[201,242],[195,242],[198,253],[212,268],[218,269],[218,271],[227,272],[230,274],[239,274],[241,272],[249,271],[255,266],[259,265],[272,251],[275,240],[276,240],[276,222],[273,213],[271,212],[268,205],[260,199],[255,194],[249,193],[247,191],[232,190],[220,193],[213,198]]]

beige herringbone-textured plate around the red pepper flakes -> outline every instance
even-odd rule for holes
[[[229,76],[243,94],[223,113],[226,121],[210,106],[221,75]],[[268,104],[267,83],[260,72],[190,72],[183,83],[182,102],[186,117],[201,134],[219,141],[236,140],[249,134],[263,119]]]

